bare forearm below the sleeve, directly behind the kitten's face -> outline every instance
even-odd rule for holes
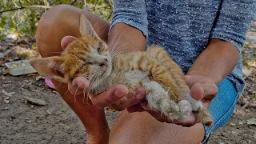
[[[146,38],[142,32],[125,23],[117,23],[110,30],[107,41],[110,50],[118,53],[142,51],[146,48]]]

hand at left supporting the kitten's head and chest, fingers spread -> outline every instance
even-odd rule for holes
[[[66,48],[73,42],[75,37],[66,36],[62,38],[61,46],[63,49]],[[68,90],[73,95],[82,94],[87,87],[90,86],[90,82],[84,77],[77,77],[68,84]],[[90,102],[92,105],[97,106],[99,109],[102,109],[106,106],[112,105],[116,110],[124,110],[129,106],[136,105],[138,102],[142,102],[142,100],[146,97],[144,89],[138,89],[134,95],[129,97],[129,101],[126,103],[122,103],[122,105],[116,105],[114,102],[118,102],[121,98],[126,97],[128,94],[128,88],[124,85],[117,85],[110,90],[106,90],[101,94],[94,95],[90,97]]]

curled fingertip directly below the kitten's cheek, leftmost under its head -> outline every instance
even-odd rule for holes
[[[89,87],[90,84],[88,80],[84,77],[77,77],[74,78],[74,80],[68,84],[68,90],[73,95],[82,94],[83,90],[86,87]]]

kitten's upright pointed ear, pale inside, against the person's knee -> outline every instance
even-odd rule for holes
[[[86,36],[88,34],[90,34],[91,36],[93,36],[94,38],[97,39],[101,39],[98,37],[98,34],[95,32],[93,26],[91,26],[90,22],[88,21],[88,19],[86,18],[86,16],[84,14],[80,14],[80,34],[82,36]]]

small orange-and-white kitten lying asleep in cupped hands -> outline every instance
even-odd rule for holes
[[[60,82],[71,82],[83,76],[90,81],[89,96],[124,84],[129,94],[138,87],[146,89],[146,100],[154,109],[170,119],[186,120],[194,112],[198,122],[210,126],[213,122],[202,102],[190,96],[181,68],[161,46],[148,46],[146,51],[128,54],[110,54],[93,30],[86,16],[80,15],[78,38],[67,46],[60,56],[34,59],[30,63],[39,74]],[[118,104],[129,98],[122,98]]]

